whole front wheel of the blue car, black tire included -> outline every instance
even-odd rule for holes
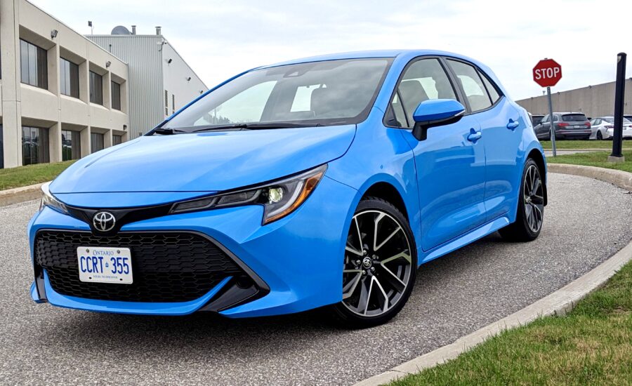
[[[408,220],[393,204],[376,197],[362,199],[343,257],[343,300],[330,306],[338,324],[367,328],[393,319],[412,292],[416,251]]]

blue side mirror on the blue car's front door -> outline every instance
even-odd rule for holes
[[[463,117],[465,107],[454,99],[431,99],[419,103],[413,119],[413,136],[423,141],[428,138],[428,128],[454,124]]]

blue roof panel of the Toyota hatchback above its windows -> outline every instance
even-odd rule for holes
[[[351,51],[345,53],[329,53],[327,55],[318,55],[318,56],[310,56],[308,58],[299,58],[293,60],[287,60],[285,62],[278,62],[272,65],[265,65],[258,68],[268,68],[268,67],[277,67],[282,65],[294,65],[298,63],[308,63],[308,62],[322,62],[325,60],[339,60],[339,59],[365,59],[365,58],[397,58],[398,56],[423,56],[423,55],[441,55],[441,56],[451,56],[453,58],[459,58],[463,60],[467,60],[468,62],[473,62],[475,65],[479,65],[480,67],[486,66],[482,65],[480,62],[473,60],[471,58],[467,58],[464,55],[459,55],[458,53],[451,53],[447,51],[439,51],[439,50],[374,50],[374,51]]]

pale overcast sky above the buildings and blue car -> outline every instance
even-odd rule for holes
[[[632,56],[630,0],[152,1],[30,0],[82,34],[162,26],[212,87],[244,69],[292,58],[383,48],[436,48],[492,67],[515,99],[541,95],[532,68],[562,65],[553,91],[614,81]],[[632,57],[627,76],[632,76]]]

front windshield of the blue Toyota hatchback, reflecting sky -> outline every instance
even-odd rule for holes
[[[204,96],[163,128],[357,124],[369,114],[390,62],[328,60],[257,69]]]

